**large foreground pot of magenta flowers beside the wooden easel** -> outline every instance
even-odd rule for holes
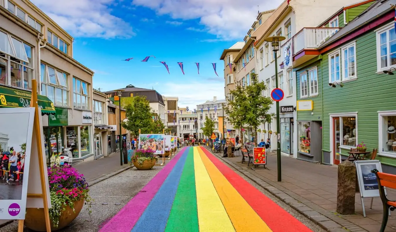
[[[84,175],[70,165],[48,168],[51,208],[48,209],[51,230],[66,227],[80,213],[85,203],[92,201]],[[87,208],[90,211],[90,205]],[[42,223],[40,223],[42,220]],[[46,231],[44,209],[28,208],[25,225],[32,230]]]

